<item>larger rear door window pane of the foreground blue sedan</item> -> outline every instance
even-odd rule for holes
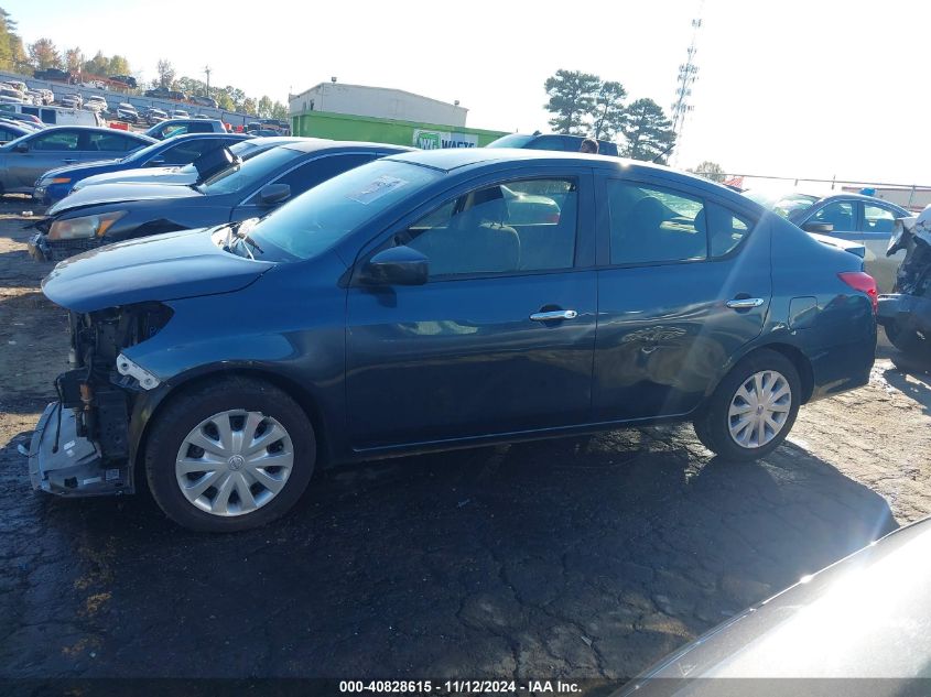
[[[704,202],[667,188],[609,179],[611,264],[707,259]]]

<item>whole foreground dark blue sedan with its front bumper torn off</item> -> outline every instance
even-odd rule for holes
[[[876,285],[845,247],[664,167],[396,154],[261,220],[58,264],[76,366],[30,476],[90,495],[144,471],[180,524],[235,531],[317,467],[390,455],[690,421],[756,460],[868,381]]]

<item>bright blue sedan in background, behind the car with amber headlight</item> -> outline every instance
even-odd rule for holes
[[[228,148],[247,138],[251,137],[241,133],[191,133],[159,141],[121,160],[56,167],[39,178],[33,190],[33,198],[45,205],[52,205],[71,194],[72,187],[77,182],[89,176],[141,167],[183,166],[191,164],[204,153],[218,148]]]

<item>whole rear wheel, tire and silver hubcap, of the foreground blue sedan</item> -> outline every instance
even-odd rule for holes
[[[694,421],[695,434],[728,460],[766,457],[789,435],[801,393],[792,361],[770,349],[755,351],[717,385]]]

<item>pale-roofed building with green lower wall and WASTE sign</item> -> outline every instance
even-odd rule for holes
[[[289,100],[291,132],[434,150],[481,148],[504,131],[468,128],[468,109],[400,89],[321,83]]]

